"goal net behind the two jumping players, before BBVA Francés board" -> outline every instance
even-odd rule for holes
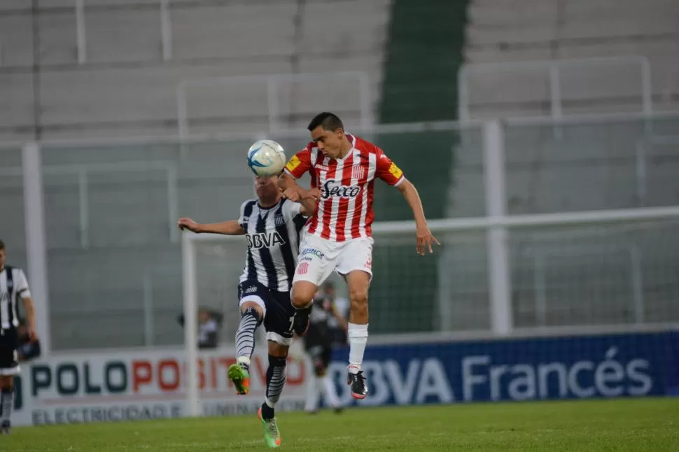
[[[679,207],[430,227],[441,246],[422,257],[412,222],[374,225],[364,365],[372,393],[361,403],[659,395],[674,387],[666,370],[673,353],[679,365],[667,336],[679,325]],[[221,311],[232,345],[246,242],[185,234],[183,243],[185,309]],[[510,325],[509,334],[498,324]],[[195,357],[193,341],[187,345]],[[342,383],[346,357],[339,346],[330,373],[353,403]],[[305,365],[300,358],[290,371],[290,409],[302,406]]]

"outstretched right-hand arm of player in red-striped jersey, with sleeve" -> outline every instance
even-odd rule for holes
[[[420,195],[410,181],[408,181],[403,171],[392,162],[389,157],[384,155],[381,150],[377,153],[377,171],[375,174],[382,181],[393,185],[402,193],[405,200],[408,202],[410,209],[415,217],[415,226],[417,230],[417,253],[424,255],[425,251],[433,253],[432,243],[440,245],[436,238],[431,234],[427,225],[427,219],[424,216],[424,208]]]

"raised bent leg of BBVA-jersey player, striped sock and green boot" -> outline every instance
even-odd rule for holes
[[[256,281],[244,281],[238,286],[241,320],[236,330],[236,363],[229,367],[229,379],[236,393],[250,392],[250,360],[255,350],[255,331],[266,314],[266,288]]]

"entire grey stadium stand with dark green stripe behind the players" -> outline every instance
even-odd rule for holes
[[[462,62],[640,55],[652,66],[654,108],[676,108],[679,84],[673,80],[679,55],[679,22],[675,2],[652,0],[648,3],[652,8],[631,0],[512,2],[510,7],[505,2],[497,6],[491,0],[441,2],[437,8],[426,8],[406,0],[284,0],[275,5],[264,1],[173,1],[169,9],[172,58],[164,59],[167,49],[161,38],[158,1],[87,0],[86,59],[79,64],[76,12],[71,0],[40,1],[35,12],[25,1],[6,0],[0,4],[0,97],[9,108],[0,110],[0,139],[176,134],[176,85],[182,80],[340,69],[365,71],[370,76],[370,106],[379,122],[455,120],[457,71]],[[603,24],[591,22],[589,17],[594,15],[605,17]],[[335,32],[327,33],[326,29]],[[244,36],[248,45],[244,45]],[[587,78],[577,74],[563,78],[564,113],[638,108],[638,97],[628,95],[636,79],[624,78],[626,73],[615,77],[604,71],[601,80],[592,78],[591,73]],[[511,73],[503,73],[501,83],[493,77],[475,79],[475,85],[470,85],[476,93],[470,98],[472,112],[484,118],[548,114],[547,91],[542,89],[545,77],[535,80]],[[321,109],[318,93],[327,86],[311,84],[300,90],[294,84],[281,85],[281,125],[303,127],[309,115]],[[335,87],[337,90],[325,98],[327,104],[349,125],[356,123],[356,97],[346,96],[351,87]],[[512,97],[508,98],[507,92]],[[254,85],[195,88],[188,97],[188,109],[192,133],[268,128],[266,100],[260,87]],[[656,120],[651,129],[653,134],[672,134],[676,126],[676,119]],[[679,168],[666,146],[649,145],[645,149],[649,155],[645,192],[640,194],[638,185],[630,183],[636,177],[639,143],[649,139],[648,132],[647,122],[632,120],[603,125],[575,123],[558,130],[542,125],[508,126],[508,212],[676,204],[675,174]],[[406,169],[421,191],[430,218],[485,214],[479,127],[459,133],[372,138]],[[300,143],[299,139],[280,141],[288,149]],[[139,313],[144,281],[149,280],[156,325],[153,343],[181,342],[175,321],[181,310],[181,254],[177,243],[171,242],[168,229],[168,187],[172,185],[168,177],[172,176],[162,169],[143,169],[144,164],[174,165],[179,188],[176,209],[183,216],[217,221],[234,216],[241,200],[251,196],[248,175],[242,173],[241,161],[234,157],[248,144],[245,139],[228,145],[195,143],[183,147],[158,143],[44,147],[45,167],[71,165],[59,174],[45,173],[44,181],[55,349],[143,344],[144,323]],[[441,153],[436,164],[421,158],[421,153],[429,150]],[[5,155],[9,157],[3,163],[18,167],[18,150],[8,150]],[[142,169],[102,169],[116,162]],[[79,185],[83,171],[88,206],[85,229]],[[25,236],[20,226],[21,178],[6,178],[2,184],[3,209],[8,206],[18,212],[15,221],[3,225],[3,239],[13,244],[12,253],[22,264]],[[409,218],[397,192],[383,187],[378,190],[383,201],[376,206],[377,220]],[[549,265],[554,267],[549,271],[560,272],[561,277],[545,280],[545,290],[554,305],[568,307],[542,319],[534,318],[534,256],[525,251],[525,243],[542,240],[545,250],[554,250],[555,244],[549,236],[515,239],[512,255],[517,259],[513,276],[517,325],[631,321],[631,302],[625,298],[629,293],[623,296],[622,292],[603,290],[603,298],[610,303],[596,309],[583,304],[587,297],[582,293],[602,289],[587,285],[589,279],[580,276],[577,257],[552,260]],[[615,240],[619,242],[620,237]],[[663,286],[667,277],[652,270],[674,266],[675,257],[648,237],[638,241],[637,249],[650,256],[643,261],[648,275],[643,281],[644,292],[652,294],[646,297],[647,318],[674,315],[667,308],[668,293]],[[377,314],[371,318],[373,332],[439,327],[435,305],[444,282],[451,286],[454,301],[455,316],[449,326],[454,330],[488,327],[487,262],[482,237],[451,239],[445,250],[441,260],[418,262],[417,267],[395,263],[413,254],[410,241],[396,241],[388,250],[376,251],[377,295],[371,303]],[[450,250],[454,253],[448,253]],[[631,262],[628,251],[623,250],[613,262],[600,264],[596,264],[596,255],[586,256],[595,262],[590,271],[601,272],[602,280],[615,283],[626,278]],[[111,274],[116,277],[111,278]],[[406,277],[420,290],[419,299],[413,300],[412,291],[402,290],[401,284],[391,283]],[[581,292],[568,292],[559,285],[563,281],[573,281]],[[231,296],[223,295],[225,304],[231,304]],[[126,323],[130,331],[124,337],[118,334],[121,323]]]

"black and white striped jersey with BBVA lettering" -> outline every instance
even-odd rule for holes
[[[280,292],[292,288],[300,234],[307,223],[301,207],[288,199],[281,199],[269,209],[254,199],[241,205],[238,223],[245,229],[248,253],[240,282],[255,279]]]

